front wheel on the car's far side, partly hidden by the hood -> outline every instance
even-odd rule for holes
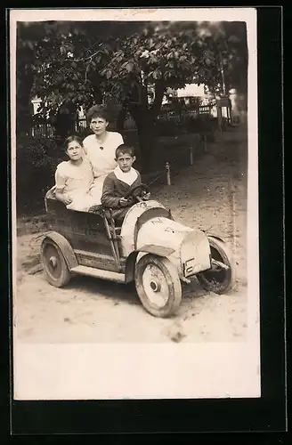
[[[229,267],[224,270],[219,266],[213,265],[211,269],[197,274],[200,285],[215,294],[227,293],[234,285],[234,266],[231,259],[231,253],[226,245],[219,239],[208,237],[213,259],[220,261]]]

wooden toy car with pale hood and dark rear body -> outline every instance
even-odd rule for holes
[[[50,230],[41,247],[46,279],[65,286],[73,274],[128,283],[134,281],[144,308],[168,317],[182,301],[182,281],[196,276],[202,287],[218,294],[231,289],[234,270],[223,239],[174,221],[158,201],[142,200],[145,184],[129,190],[136,203],[118,226],[110,210],[69,210],[45,196]]]

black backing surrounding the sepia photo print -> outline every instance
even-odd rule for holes
[[[4,339],[4,354],[0,360],[5,371],[1,376],[4,377],[1,378],[1,392],[4,394],[2,418],[9,419],[12,435],[31,437],[77,434],[81,440],[80,435],[168,433],[174,436],[174,441],[180,443],[178,433],[202,433],[198,437],[202,441],[204,433],[205,436],[206,433],[220,433],[223,438],[226,433],[284,433],[287,430],[282,8],[260,6],[256,9],[262,397],[182,401],[14,401],[12,344],[9,340],[12,320],[6,320],[7,313],[12,310],[12,283],[8,280],[10,298],[1,302],[3,307],[0,313],[4,321],[2,320],[0,326],[4,334],[1,336]],[[6,30],[8,35],[9,21],[8,29],[6,23]],[[7,61],[8,55],[6,53]],[[9,85],[9,74],[6,82]],[[9,103],[9,88],[6,94]],[[6,113],[7,122],[10,118],[8,109]],[[10,149],[9,136],[8,131],[7,142]],[[7,180],[8,190],[11,190],[9,149]],[[11,208],[10,192],[7,198],[8,208]],[[9,221],[8,239],[11,240],[10,229]],[[10,252],[11,249],[8,250],[8,278],[12,271]],[[231,439],[232,442],[233,440]],[[139,436],[134,442],[140,442]]]

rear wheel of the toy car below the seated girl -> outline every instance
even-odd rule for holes
[[[61,248],[53,239],[45,238],[41,247],[41,261],[45,278],[54,287],[63,287],[69,283],[71,274]]]

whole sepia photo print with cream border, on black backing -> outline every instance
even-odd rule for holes
[[[260,397],[255,25],[11,10],[16,400]]]

